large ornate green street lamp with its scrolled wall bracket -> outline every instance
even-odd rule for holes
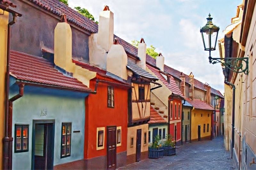
[[[216,43],[218,32],[220,27],[214,25],[212,23],[211,14],[206,18],[207,23],[202,28],[200,28],[200,32],[202,35],[202,40],[204,44],[204,50],[209,51],[209,62],[212,64],[221,63],[222,66],[228,68],[236,73],[244,73],[248,74],[248,57],[241,58],[212,58],[211,51],[216,50]],[[245,63],[245,67],[243,67],[243,62]]]

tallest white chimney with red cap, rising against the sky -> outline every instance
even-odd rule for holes
[[[109,51],[114,39],[114,13],[111,12],[107,5],[100,12],[98,44]]]

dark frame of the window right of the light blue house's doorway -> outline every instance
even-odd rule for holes
[[[68,125],[70,124],[70,133],[68,134]],[[62,140],[63,140],[63,125],[66,125],[66,131],[65,131],[65,135],[66,135],[66,141],[65,141],[65,145],[62,144]],[[69,144],[67,144],[68,138],[67,136],[70,135],[70,139],[69,139]],[[60,158],[66,158],[71,156],[71,138],[72,138],[72,122],[62,122],[61,123],[61,140],[60,140]],[[69,154],[67,154],[67,146],[69,145]],[[65,155],[62,155],[62,147],[65,146]]]

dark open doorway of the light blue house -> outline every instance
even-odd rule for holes
[[[53,168],[53,124],[35,124],[34,169]]]

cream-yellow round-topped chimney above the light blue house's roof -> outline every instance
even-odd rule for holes
[[[54,64],[72,72],[72,32],[64,14],[61,21],[54,29]]]

